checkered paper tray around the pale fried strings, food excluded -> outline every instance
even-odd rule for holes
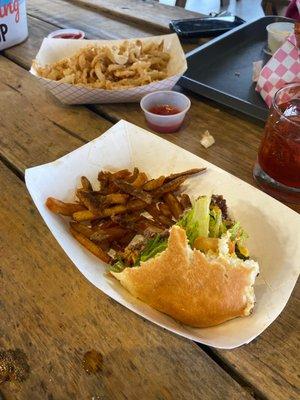
[[[64,104],[96,104],[96,103],[122,103],[139,101],[148,93],[158,90],[171,90],[187,69],[186,59],[176,34],[152,36],[147,38],[134,38],[128,41],[141,40],[142,42],[164,40],[164,50],[168,51],[171,58],[168,64],[168,77],[161,81],[130,89],[104,90],[69,83],[61,83],[38,75],[34,67],[30,72],[35,75],[43,85]],[[72,40],[51,39],[43,40],[42,46],[36,56],[36,61],[44,66],[54,63],[65,57],[70,57],[80,48],[89,44],[113,46],[123,40]]]

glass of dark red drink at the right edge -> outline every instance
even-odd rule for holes
[[[253,176],[271,196],[300,203],[300,83],[275,94]]]

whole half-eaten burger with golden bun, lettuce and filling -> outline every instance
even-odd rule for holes
[[[259,265],[249,258],[246,238],[222,196],[201,196],[169,231],[129,246],[110,273],[177,321],[218,325],[250,315],[255,304]]]

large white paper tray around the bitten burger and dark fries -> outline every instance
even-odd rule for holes
[[[200,144],[199,144],[200,145]],[[187,180],[183,190],[192,198],[222,194],[229,211],[249,233],[250,254],[260,264],[253,314],[222,325],[196,329],[133,298],[106,274],[105,265],[69,233],[68,221],[51,213],[47,197],[73,201],[82,175],[97,183],[99,170],[138,167],[149,177],[189,168],[207,167],[205,174]],[[27,188],[49,229],[81,273],[111,298],[144,318],[186,338],[218,348],[249,343],[285,307],[299,275],[300,216],[260,190],[166,140],[125,121],[99,138],[49,164],[26,170]]]

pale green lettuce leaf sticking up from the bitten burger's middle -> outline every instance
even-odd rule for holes
[[[211,197],[199,197],[193,207],[186,211],[177,225],[185,229],[187,238],[191,246],[199,236],[208,237],[209,234],[209,206]]]

